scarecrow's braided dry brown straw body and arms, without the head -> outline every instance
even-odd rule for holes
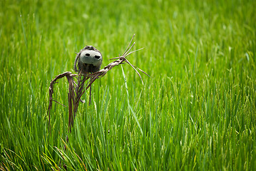
[[[133,35],[133,38],[134,38],[134,36],[135,35]],[[130,43],[133,41],[133,38],[131,38]],[[97,71],[95,73],[87,73],[87,74],[81,74],[81,73],[73,74],[73,73],[67,71],[65,73],[61,73],[60,75],[56,76],[56,78],[54,78],[53,81],[51,81],[50,87],[49,87],[49,105],[48,105],[48,117],[49,117],[48,129],[49,130],[51,130],[50,123],[51,123],[52,103],[53,103],[53,101],[58,103],[58,101],[53,99],[53,85],[54,85],[54,83],[56,83],[56,81],[58,79],[63,78],[63,77],[66,77],[68,79],[68,128],[69,128],[69,131],[71,132],[71,127],[73,126],[73,120],[76,118],[76,112],[78,110],[79,102],[80,101],[83,102],[83,100],[81,100],[81,96],[83,95],[83,93],[86,92],[86,90],[88,88],[91,88],[91,85],[93,84],[94,81],[96,81],[96,79],[105,76],[106,73],[108,71],[110,71],[113,67],[118,66],[119,64],[123,64],[123,63],[128,63],[130,66],[132,66],[136,73],[138,73],[136,68],[139,71],[145,73],[140,68],[138,68],[136,66],[133,66],[127,60],[126,57],[129,56],[131,53],[143,49],[143,48],[140,48],[140,49],[137,49],[135,51],[130,51],[133,48],[134,44],[135,44],[135,43],[133,43],[130,46],[130,43],[129,43],[128,47],[126,48],[126,51],[123,53],[122,56],[119,56],[119,57],[116,57],[116,58],[111,58],[110,60],[116,59],[116,61],[113,61],[112,63],[109,63],[108,66],[105,66],[100,71]],[[148,76],[147,73],[145,73],[145,74]],[[140,76],[140,73],[138,73],[138,76]],[[77,83],[73,80],[73,78],[77,79]],[[140,80],[142,81],[141,76],[140,76]],[[86,83],[86,81],[88,81],[88,82]],[[142,83],[143,83],[143,81],[142,81]],[[90,99],[91,99],[91,91],[90,91]],[[61,103],[58,103],[58,104],[61,104]],[[65,106],[65,105],[63,105],[63,106]]]

